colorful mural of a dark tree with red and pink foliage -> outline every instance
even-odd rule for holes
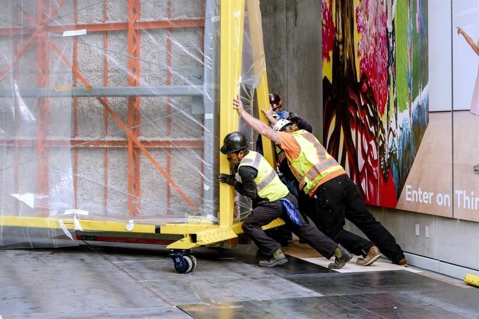
[[[396,207],[429,121],[428,1],[322,0],[322,25],[323,143]]]

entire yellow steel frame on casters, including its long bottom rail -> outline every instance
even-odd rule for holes
[[[238,130],[238,114],[233,109],[233,98],[240,93],[241,78],[241,55],[243,39],[243,21],[245,1],[249,12],[249,25],[253,54],[264,54],[262,47],[262,34],[260,32],[261,21],[258,19],[258,0],[222,0],[221,1],[221,44],[220,44],[220,136]],[[256,27],[255,27],[256,26]],[[269,107],[268,84],[266,70],[262,72],[261,80],[257,88],[258,106],[267,110]],[[262,112],[259,112],[260,119],[267,122]],[[223,139],[219,139],[221,142]],[[273,149],[271,142],[263,137],[263,151],[266,160],[274,164]],[[269,147],[267,147],[269,146]],[[225,156],[220,157],[220,171],[229,172],[230,165]],[[234,223],[234,189],[233,187],[220,183],[220,213],[219,224],[214,225],[211,221],[202,219],[200,222],[189,221],[187,223],[167,223],[160,226],[161,234],[183,235],[183,238],[167,246],[169,249],[191,249],[198,246],[218,243],[238,237],[243,231],[241,223]],[[198,217],[198,216],[195,216]],[[75,229],[75,220],[66,218],[45,218],[45,217],[18,217],[0,216],[0,225],[13,227],[38,227],[38,228],[61,228],[60,220],[67,229]],[[190,220],[190,218],[189,218]],[[137,223],[138,222],[138,223]],[[120,221],[98,221],[90,219],[79,219],[77,223],[85,232],[115,232],[115,233],[140,233],[155,234],[156,226],[141,224],[135,221],[132,230],[127,230],[128,225]],[[276,219],[270,224],[263,226],[263,229],[270,229],[284,225],[281,219]]]

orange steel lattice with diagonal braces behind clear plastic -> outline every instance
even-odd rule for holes
[[[168,0],[168,19],[158,21],[140,21],[140,0],[128,0],[128,21],[127,22],[107,22],[107,4],[108,0],[104,0],[104,22],[92,23],[92,24],[78,24],[77,23],[77,0],[73,0],[73,25],[50,25],[50,22],[58,13],[60,8],[65,4],[66,0],[59,0],[55,6],[50,9],[50,0],[37,0],[37,18],[32,18],[20,4],[15,5],[15,11],[27,20],[30,24],[29,28],[24,27],[7,27],[0,28],[0,35],[12,36],[14,57],[7,67],[0,72],[0,79],[2,79],[13,67],[14,76],[17,76],[16,63],[18,59],[24,54],[28,47],[32,43],[37,44],[37,87],[49,88],[49,54],[50,50],[57,54],[63,62],[71,69],[73,73],[73,86],[83,86],[88,89],[91,88],[90,83],[78,70],[77,61],[77,39],[74,38],[73,46],[73,61],[70,61],[63,52],[50,40],[48,33],[50,32],[62,32],[66,30],[81,30],[86,29],[87,32],[103,32],[104,37],[104,85],[108,86],[108,32],[109,31],[127,31],[128,32],[128,85],[140,86],[140,34],[141,29],[161,29],[166,28],[168,32],[168,74],[167,85],[172,85],[171,81],[171,28],[185,28],[185,27],[203,27],[204,21],[204,7],[202,1],[201,16],[200,19],[178,19],[171,20],[171,0]],[[15,24],[18,21],[18,16],[15,15]],[[29,35],[29,38],[24,42],[21,48],[18,47],[18,35]],[[202,35],[203,37],[203,35]],[[193,201],[186,195],[185,192],[175,183],[171,178],[171,149],[174,148],[198,148],[202,149],[203,140],[197,141],[140,141],[140,96],[130,96],[128,98],[128,123],[121,121],[120,117],[109,107],[107,97],[97,97],[97,100],[103,106],[104,113],[104,125],[105,136],[108,135],[108,116],[111,116],[115,122],[126,132],[128,141],[122,140],[108,140],[106,141],[79,141],[78,137],[78,101],[77,97],[74,97],[74,128],[73,128],[73,140],[69,143],[65,141],[52,141],[47,139],[49,129],[49,99],[48,97],[39,97],[37,99],[38,105],[38,119],[37,119],[37,140],[36,143],[29,140],[0,140],[0,146],[15,146],[15,147],[36,147],[36,156],[39,159],[37,166],[36,176],[36,191],[40,198],[38,204],[38,215],[44,216],[47,214],[45,210],[48,208],[48,190],[49,190],[49,160],[48,153],[52,147],[74,147],[73,154],[73,184],[74,184],[74,197],[75,208],[77,201],[77,172],[78,172],[78,148],[79,147],[97,147],[104,148],[104,179],[105,185],[108,181],[108,149],[111,147],[127,147],[128,148],[128,214],[131,216],[139,215],[140,211],[140,154],[143,153],[148,160],[162,173],[167,180],[167,207],[168,212],[170,208],[170,187],[173,187],[178,193],[185,199],[185,201],[195,210],[198,211],[198,207]],[[16,102],[17,103],[17,102]],[[17,106],[15,112],[18,112]],[[171,120],[169,115],[171,114],[171,97],[168,97],[167,102],[167,115],[168,126],[167,136],[171,135]],[[15,116],[15,119],[18,117]],[[16,124],[17,125],[17,124]],[[35,143],[33,145],[33,143]],[[167,165],[166,169],[158,163],[157,160],[147,151],[147,148],[165,148],[167,151]],[[18,160],[17,160],[18,162]],[[16,187],[18,188],[18,167],[16,167]],[[108,187],[104,187],[104,199],[105,205],[108,198]]]

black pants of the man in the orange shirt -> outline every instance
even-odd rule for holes
[[[316,226],[351,253],[365,256],[374,243],[392,262],[404,258],[393,235],[371,215],[348,175],[334,177],[320,185],[310,202],[313,209],[309,214]],[[344,218],[356,225],[372,243],[344,230]]]

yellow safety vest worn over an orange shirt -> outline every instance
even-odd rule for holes
[[[289,160],[289,167],[299,181],[299,189],[308,194],[328,174],[344,168],[326,152],[311,133],[300,130],[292,133],[301,151],[296,159]]]

